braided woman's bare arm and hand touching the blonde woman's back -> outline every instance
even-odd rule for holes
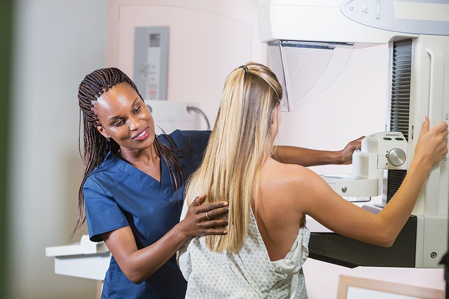
[[[225,235],[227,219],[206,217],[218,216],[228,210],[226,201],[201,205],[204,195],[195,198],[186,217],[154,244],[138,250],[129,226],[102,235],[109,251],[114,256],[126,277],[140,284],[164,265],[184,243],[193,236]]]

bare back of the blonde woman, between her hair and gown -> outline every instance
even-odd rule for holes
[[[262,168],[254,214],[271,261],[285,257],[305,222],[297,207],[301,167],[270,158]]]

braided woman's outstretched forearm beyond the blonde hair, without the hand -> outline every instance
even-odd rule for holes
[[[289,146],[273,148],[272,158],[281,163],[301,166],[341,164],[340,151],[305,149]]]

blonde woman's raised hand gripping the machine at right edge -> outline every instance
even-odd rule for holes
[[[429,119],[425,117],[423,129],[415,147],[415,156],[421,167],[432,167],[448,153],[448,124],[441,122],[429,129]]]

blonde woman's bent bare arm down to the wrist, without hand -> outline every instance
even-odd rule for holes
[[[313,210],[306,211],[318,222],[346,237],[382,247],[393,245],[416,204],[421,187],[429,173],[430,167],[422,166],[418,160],[412,161],[409,173],[404,178],[401,187],[390,202],[379,214],[372,214],[356,205],[342,200],[335,192],[327,195],[328,186],[316,185],[309,205]],[[324,193],[325,199],[319,198]],[[307,190],[303,191],[307,195]]]

